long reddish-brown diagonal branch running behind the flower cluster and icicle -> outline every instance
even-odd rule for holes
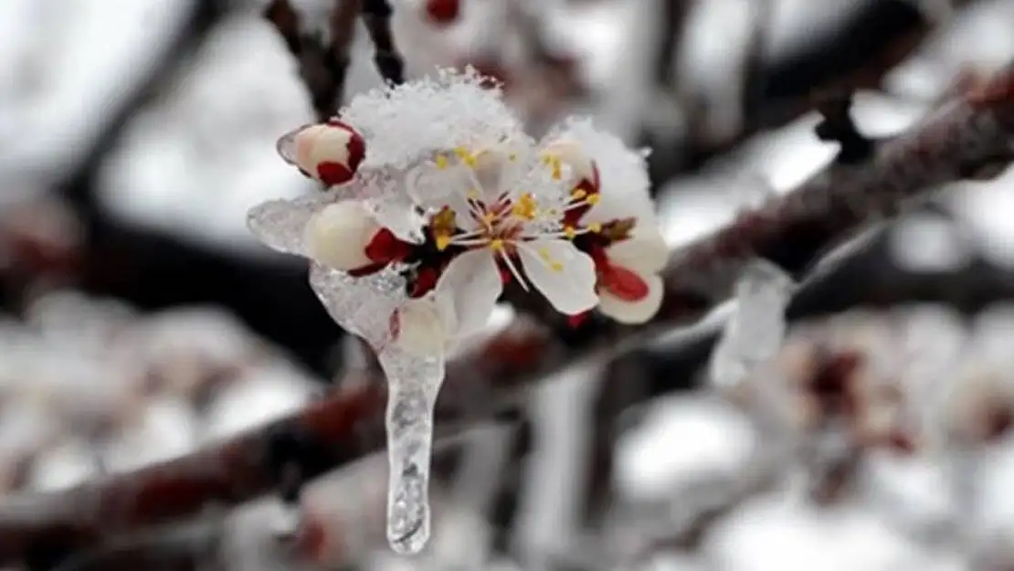
[[[831,164],[797,192],[744,213],[674,253],[655,327],[594,322],[568,338],[524,322],[448,364],[438,423],[489,417],[521,389],[578,359],[621,355],[639,340],[721,300],[735,269],[763,256],[800,276],[819,254],[871,218],[892,215],[938,185],[1011,159],[1014,67],[945,104],[860,164]],[[677,379],[678,380],[678,379]],[[478,404],[478,406],[477,406]],[[71,553],[127,531],[177,521],[209,503],[234,505],[277,489],[281,465],[313,477],[378,449],[383,382],[349,386],[305,410],[188,456],[66,491],[0,504],[0,564]],[[364,436],[368,434],[369,436]],[[281,446],[280,443],[288,443]],[[295,443],[295,444],[293,444]]]

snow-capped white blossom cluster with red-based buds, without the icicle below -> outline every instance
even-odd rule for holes
[[[309,258],[332,315],[375,346],[442,354],[511,281],[568,315],[637,324],[660,306],[643,153],[584,120],[531,139],[475,72],[359,95],[279,150],[330,188],[255,207],[250,228]]]

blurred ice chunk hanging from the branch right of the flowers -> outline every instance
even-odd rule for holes
[[[780,268],[753,261],[736,283],[735,312],[711,357],[711,378],[734,386],[757,365],[771,359],[785,338],[785,307],[795,282]]]

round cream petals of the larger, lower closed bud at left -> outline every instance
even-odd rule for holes
[[[329,204],[306,222],[306,255],[336,270],[349,271],[374,262],[366,255],[380,225],[358,200]]]

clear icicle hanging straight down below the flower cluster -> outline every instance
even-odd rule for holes
[[[442,357],[417,357],[397,347],[379,355],[387,376],[387,543],[419,553],[430,537],[430,452],[433,407],[443,382]]]

